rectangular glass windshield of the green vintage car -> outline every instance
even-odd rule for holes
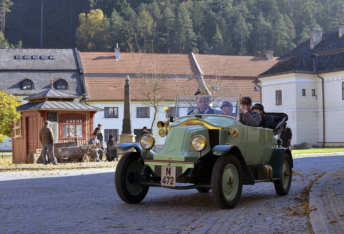
[[[179,96],[176,104],[176,118],[186,115],[222,115],[238,117],[238,95],[196,95]],[[197,112],[196,111],[196,112]]]

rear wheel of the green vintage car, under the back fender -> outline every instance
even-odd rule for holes
[[[281,179],[273,182],[277,195],[287,195],[291,185],[291,161],[288,153],[283,155]]]

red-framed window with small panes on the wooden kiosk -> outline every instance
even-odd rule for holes
[[[83,118],[62,118],[62,138],[83,137]]]

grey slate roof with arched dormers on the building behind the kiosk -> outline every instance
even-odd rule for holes
[[[20,59],[15,59],[15,56]],[[23,56],[29,59],[23,59]],[[33,55],[37,59],[33,59]],[[47,56],[41,59],[40,56]],[[54,56],[54,59],[49,59]],[[30,96],[50,88],[52,78],[55,82],[63,79],[73,95],[83,95],[84,85],[80,78],[78,51],[75,49],[0,49],[0,89],[16,96]],[[32,90],[22,90],[20,82],[29,79]]]

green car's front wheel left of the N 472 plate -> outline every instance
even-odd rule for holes
[[[115,171],[115,186],[120,199],[127,203],[141,202],[147,195],[149,186],[140,184],[143,165],[138,161],[137,152],[128,152],[118,161]]]

